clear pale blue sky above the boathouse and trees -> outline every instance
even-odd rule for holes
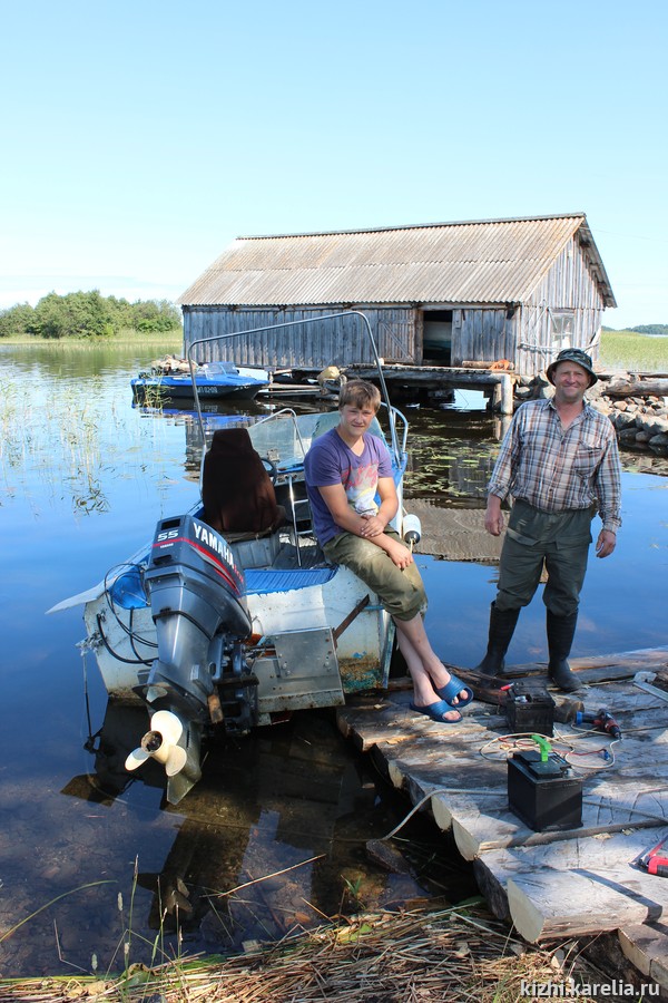
[[[0,308],[174,300],[236,236],[587,213],[668,323],[662,0],[6,6]]]

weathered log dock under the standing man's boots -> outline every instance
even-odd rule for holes
[[[582,779],[579,828],[533,831],[508,804],[508,758],[518,742],[536,744],[510,737],[500,684],[547,682],[544,664],[497,681],[453,666],[478,698],[458,724],[413,713],[410,684],[396,681],[382,699],[342,708],[338,727],[452,834],[490,909],[525,941],[616,932],[636,968],[668,991],[668,877],[638,864],[668,836],[668,645],[570,662],[582,686],[568,697],[551,691],[551,741]],[[568,723],[573,705],[607,708],[622,740]]]

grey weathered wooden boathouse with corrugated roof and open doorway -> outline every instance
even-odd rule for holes
[[[567,347],[596,361],[603,309],[616,305],[583,213],[239,237],[178,302],[186,351],[364,311],[387,379],[431,388],[498,383],[492,363],[532,378]],[[355,317],[219,344],[239,364],[305,374],[374,361]],[[197,351],[206,361],[210,348]]]

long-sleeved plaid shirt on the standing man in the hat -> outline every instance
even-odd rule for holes
[[[621,469],[612,422],[588,403],[563,431],[551,400],[518,408],[488,485],[542,512],[596,506],[603,529],[621,525]]]

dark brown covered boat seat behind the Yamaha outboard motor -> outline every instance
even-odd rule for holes
[[[228,543],[271,536],[287,518],[247,428],[214,432],[202,471],[204,520]]]

